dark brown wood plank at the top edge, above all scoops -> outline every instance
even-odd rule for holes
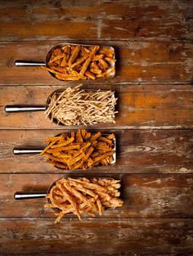
[[[191,1],[0,2],[2,40],[192,36]]]

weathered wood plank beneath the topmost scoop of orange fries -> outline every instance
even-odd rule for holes
[[[65,41],[73,43],[96,43],[115,48],[117,63],[114,79],[83,81],[86,84],[101,83],[191,83],[193,46],[187,42],[120,42],[120,41]],[[0,43],[0,84],[41,85],[70,84],[53,79],[40,67],[16,67],[14,61],[44,61],[49,49],[62,41]],[[73,83],[73,82],[71,82]]]

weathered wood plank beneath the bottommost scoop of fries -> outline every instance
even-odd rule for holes
[[[92,177],[89,173],[81,173],[81,176]],[[47,191],[60,177],[61,174],[48,173],[1,174],[0,218],[53,217],[52,210],[43,208],[46,199],[14,200],[13,195],[16,191]],[[121,179],[124,204],[118,209],[105,210],[101,218],[191,218],[193,215],[191,174],[105,174],[105,177]],[[70,214],[65,218],[77,217]]]

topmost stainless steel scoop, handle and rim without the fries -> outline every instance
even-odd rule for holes
[[[65,45],[79,45],[79,46],[83,46],[83,47],[94,47],[95,45],[91,45],[91,44],[77,44],[77,43],[60,43],[54,47],[52,47],[50,49],[50,51],[47,53],[47,57],[46,57],[46,61],[43,62],[43,61],[21,61],[21,60],[17,60],[15,61],[15,65],[16,66],[20,66],[20,67],[34,67],[34,66],[47,66],[47,68],[49,68],[49,66],[47,65],[47,63],[50,61],[50,58],[52,56],[52,52],[56,49],[56,48],[61,48],[61,47],[64,47]],[[107,47],[107,48],[110,48],[111,50],[114,51],[114,47],[109,47],[109,46],[103,46],[103,47]],[[113,56],[115,58],[115,55]],[[114,67],[114,62],[110,62],[110,67]],[[49,72],[49,71],[47,71]],[[53,74],[52,72],[49,72],[53,78],[57,79],[56,78],[56,75]],[[114,72],[110,72],[110,77],[114,77],[114,74],[115,74],[115,70]],[[60,79],[58,79],[60,80]],[[63,81],[63,80],[62,80]]]

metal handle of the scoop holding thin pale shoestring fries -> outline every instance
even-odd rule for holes
[[[46,106],[20,106],[20,105],[5,106],[5,111],[7,113],[25,112],[25,111],[43,111],[43,110],[46,110]]]

